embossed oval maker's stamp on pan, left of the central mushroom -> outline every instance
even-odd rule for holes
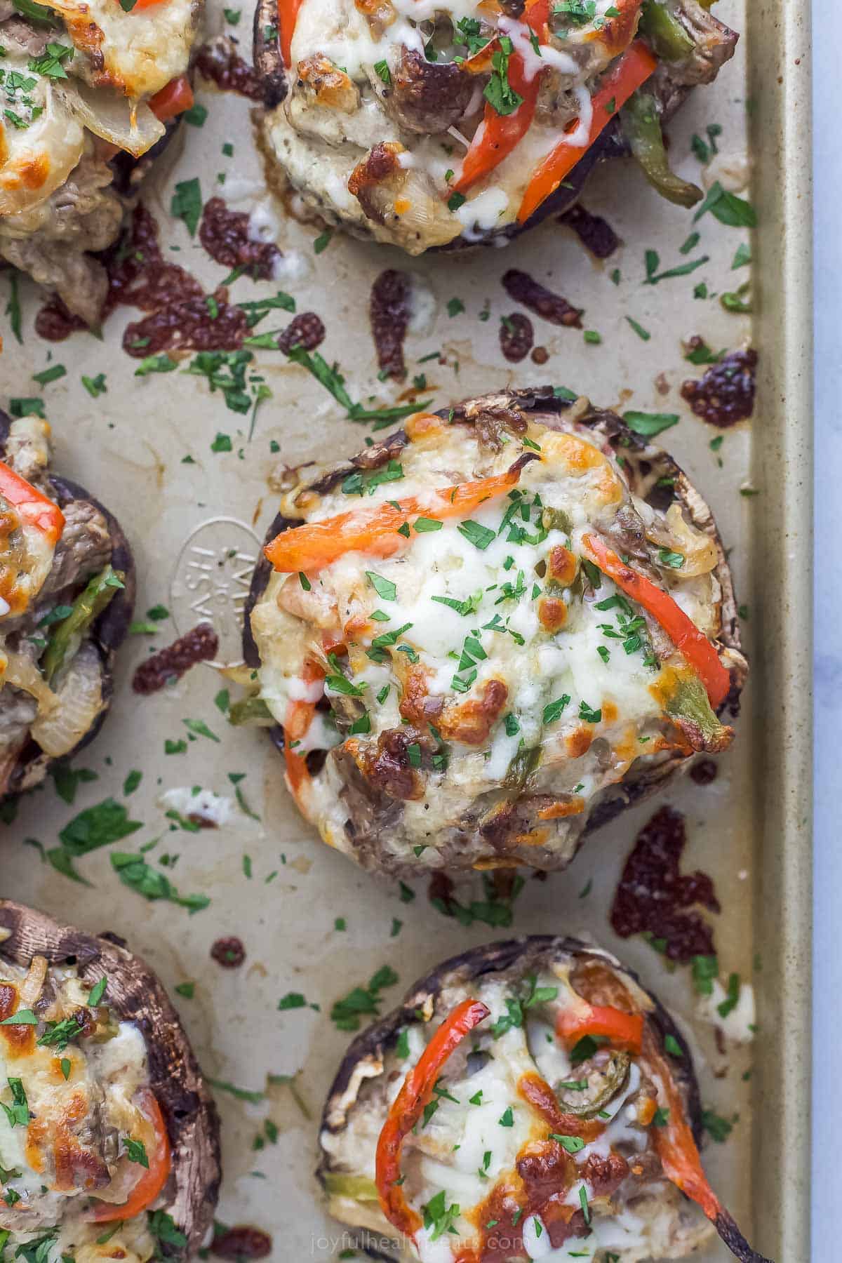
[[[220,655],[211,667],[242,662],[242,611],[260,541],[240,518],[207,518],[181,547],[169,585],[173,621],[179,635],[197,623],[211,623]]]

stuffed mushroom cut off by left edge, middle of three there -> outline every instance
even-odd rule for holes
[[[96,735],[134,609],[119,523],[49,458],[45,421],[0,412],[0,798]]]

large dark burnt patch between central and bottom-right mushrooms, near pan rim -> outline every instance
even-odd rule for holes
[[[720,911],[707,873],[680,871],[685,846],[684,817],[661,807],[637,834],[611,908],[611,926],[621,938],[649,933],[680,964],[716,955],[713,927],[697,909]]]

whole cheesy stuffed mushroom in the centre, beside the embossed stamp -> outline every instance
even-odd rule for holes
[[[298,472],[232,717],[283,727],[300,811],[364,868],[564,868],[730,744],[746,663],[713,518],[616,414],[506,392]]]

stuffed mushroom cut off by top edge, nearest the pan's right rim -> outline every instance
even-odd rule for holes
[[[304,203],[409,254],[511,236],[632,153],[670,201],[661,124],[737,37],[711,0],[260,0],[265,149]]]

